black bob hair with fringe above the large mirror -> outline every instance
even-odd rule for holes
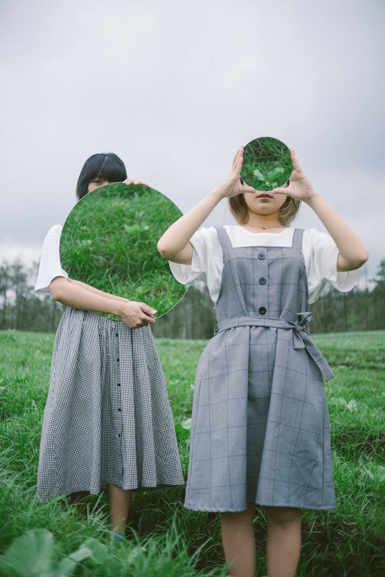
[[[109,182],[122,182],[127,178],[124,162],[113,152],[93,154],[84,163],[76,185],[76,198],[80,200],[88,193],[93,178]]]

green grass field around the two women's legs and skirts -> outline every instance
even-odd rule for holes
[[[0,575],[224,577],[219,516],[184,509],[183,488],[133,497],[128,540],[112,542],[104,495],[82,517],[65,500],[35,503],[42,414],[54,335],[0,332]],[[335,379],[330,409],[337,509],[304,511],[299,577],[385,575],[385,331],[316,335]],[[158,339],[182,467],[188,467],[192,383],[203,340]],[[29,530],[40,528],[35,533]],[[46,531],[43,531],[45,529]],[[50,533],[48,533],[49,531]],[[266,521],[256,508],[257,575],[266,575]],[[17,540],[18,539],[18,540]],[[39,557],[39,548],[44,554]],[[27,571],[28,558],[36,572]]]

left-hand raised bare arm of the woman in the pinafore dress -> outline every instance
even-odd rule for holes
[[[158,250],[163,257],[174,263],[191,264],[193,246],[189,242],[208,215],[222,198],[236,196],[242,192],[255,193],[255,189],[241,183],[243,147],[238,148],[233,158],[233,167],[229,176],[203,198],[194,208],[176,220],[158,241]]]

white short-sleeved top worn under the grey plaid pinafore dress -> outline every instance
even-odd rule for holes
[[[225,226],[234,248],[238,246],[291,246],[294,228],[285,228],[281,233],[251,233],[246,228],[231,224]],[[212,301],[216,303],[222,280],[223,256],[215,227],[201,228],[190,242],[193,257],[190,265],[170,262],[171,272],[182,284],[193,280],[207,283]],[[316,228],[304,230],[302,254],[308,276],[309,302],[317,300],[326,283],[342,293],[351,290],[358,280],[358,269],[337,272],[338,248],[333,239]]]

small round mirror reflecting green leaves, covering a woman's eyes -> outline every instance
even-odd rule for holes
[[[266,192],[283,186],[292,172],[290,149],[281,140],[263,136],[246,144],[241,177],[249,186]]]

